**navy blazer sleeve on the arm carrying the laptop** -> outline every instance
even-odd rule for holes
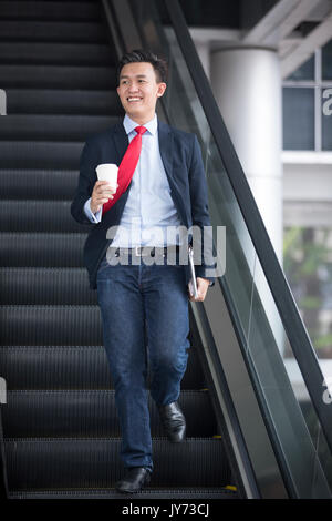
[[[212,232],[208,208],[208,191],[206,183],[206,174],[203,164],[201,150],[195,134],[193,140],[193,154],[189,167],[189,190],[191,203],[193,225],[199,226],[201,237],[200,258],[201,264],[195,265],[196,276],[210,280],[210,285],[215,284],[215,277],[210,276],[211,270],[216,268],[212,257]],[[206,228],[205,228],[206,227]],[[204,239],[207,239],[206,242]],[[194,238],[195,241],[195,238]],[[194,242],[195,253],[195,242]],[[208,268],[209,276],[206,270]]]

